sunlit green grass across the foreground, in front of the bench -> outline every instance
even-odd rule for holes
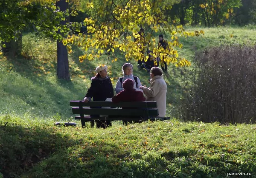
[[[256,125],[145,122],[107,129],[1,117],[3,175],[30,177],[256,177]]]

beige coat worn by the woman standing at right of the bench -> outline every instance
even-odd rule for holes
[[[163,76],[154,76],[150,80],[150,87],[143,88],[143,93],[146,95],[147,102],[157,102],[158,116],[166,115],[166,93],[167,85]]]

